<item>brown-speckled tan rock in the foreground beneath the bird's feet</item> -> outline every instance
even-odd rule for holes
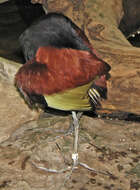
[[[71,165],[73,136],[56,132],[66,130],[68,125],[67,117],[41,118],[22,125],[1,143],[0,187],[5,190],[139,188],[140,129],[136,123],[82,118],[80,161],[97,173],[79,166],[67,180],[70,171],[55,174],[37,169],[34,164],[57,170]]]

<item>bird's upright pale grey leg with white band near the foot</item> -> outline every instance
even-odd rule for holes
[[[73,166],[78,165],[78,136],[79,136],[79,119],[75,111],[72,111],[73,126],[74,126],[74,153],[72,154]]]

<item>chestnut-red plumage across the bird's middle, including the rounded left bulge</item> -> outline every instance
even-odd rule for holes
[[[40,47],[35,61],[23,65],[15,81],[28,93],[52,95],[86,85],[108,70],[104,61],[87,51]]]

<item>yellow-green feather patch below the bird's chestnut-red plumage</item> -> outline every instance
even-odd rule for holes
[[[88,111],[92,108],[88,89],[93,82],[51,95],[45,95],[49,107],[64,111]]]

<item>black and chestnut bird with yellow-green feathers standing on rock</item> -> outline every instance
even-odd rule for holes
[[[26,63],[15,85],[27,103],[70,111],[75,130],[73,166],[78,161],[78,113],[107,98],[110,65],[99,58],[84,32],[61,13],[48,13],[19,38]],[[81,114],[79,114],[81,116]]]

